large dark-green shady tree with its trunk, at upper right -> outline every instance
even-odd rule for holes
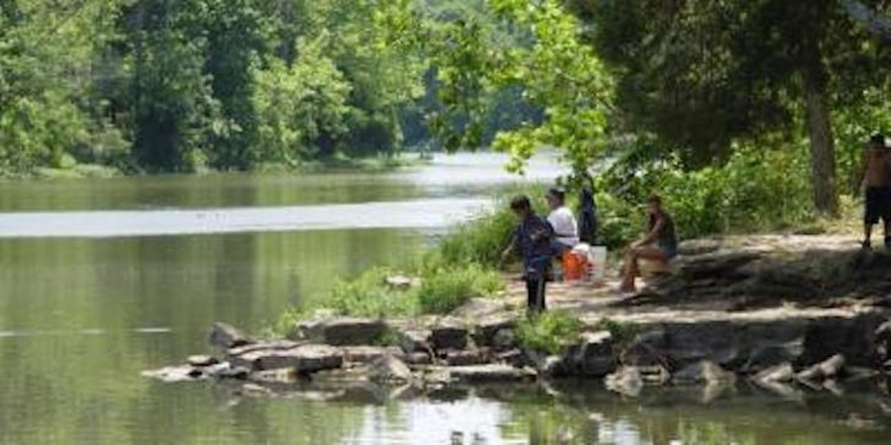
[[[881,85],[891,48],[836,2],[571,3],[619,75],[618,104],[632,130],[658,134],[701,165],[736,138],[792,139],[804,127],[814,204],[837,212],[830,110]]]

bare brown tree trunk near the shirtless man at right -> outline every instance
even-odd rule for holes
[[[830,110],[826,104],[825,67],[812,65],[805,73],[805,108],[811,142],[813,205],[817,212],[838,216],[836,194],[835,143],[832,139]]]

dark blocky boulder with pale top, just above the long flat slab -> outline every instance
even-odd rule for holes
[[[297,324],[293,337],[334,346],[375,344],[387,331],[382,320],[334,319],[310,320]]]

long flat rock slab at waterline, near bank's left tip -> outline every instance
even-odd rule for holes
[[[310,374],[343,366],[343,352],[327,344],[301,344],[291,349],[260,349],[231,357],[234,367],[254,371],[291,368]]]

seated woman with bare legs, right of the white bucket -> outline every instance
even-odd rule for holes
[[[674,220],[662,209],[662,198],[652,195],[647,199],[647,234],[635,241],[625,251],[622,285],[619,292],[634,294],[634,278],[639,274],[638,260],[645,259],[666,265],[677,256],[677,236],[674,234]]]

